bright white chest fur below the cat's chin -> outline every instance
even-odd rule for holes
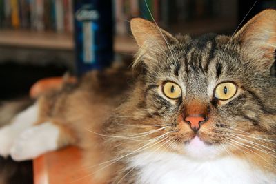
[[[276,183],[276,176],[264,173],[232,156],[211,161],[196,161],[172,153],[144,152],[131,159],[131,167],[139,168],[137,183]]]

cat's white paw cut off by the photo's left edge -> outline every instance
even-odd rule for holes
[[[5,126],[0,129],[0,155],[3,157],[10,155],[10,150],[16,138],[12,127]]]

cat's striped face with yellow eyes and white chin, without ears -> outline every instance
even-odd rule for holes
[[[200,39],[176,43],[157,57],[158,64],[146,72],[146,84],[154,86],[146,91],[146,108],[171,124],[167,131],[175,130],[171,136],[179,152],[213,156],[233,143],[235,134],[262,134],[269,125],[262,119],[263,108],[269,111],[264,104],[276,103],[276,88],[269,70],[245,64],[239,48],[224,52],[224,38]]]

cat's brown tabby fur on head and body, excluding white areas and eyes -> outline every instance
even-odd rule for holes
[[[134,183],[139,170],[127,167],[130,158],[147,140],[169,131],[175,146],[159,150],[186,155],[181,145],[195,132],[183,116],[194,112],[208,116],[197,132],[205,143],[224,144],[230,154],[276,174],[276,78],[270,74],[276,48],[275,10],[258,14],[234,37],[172,37],[143,19],[132,19],[131,28],[140,47],[135,70],[142,68],[135,82],[124,70],[90,72],[77,85],[42,96],[37,123],[56,123],[62,132],[60,146],[86,150],[85,163],[101,183]],[[162,94],[164,81],[181,86],[181,99]],[[212,81],[233,81],[237,94],[228,101],[215,99],[213,89],[208,94]],[[119,105],[121,98],[124,103]],[[157,149],[165,140],[146,150]]]

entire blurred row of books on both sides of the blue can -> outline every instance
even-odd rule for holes
[[[236,19],[237,6],[233,6],[234,1],[237,2],[237,0],[112,0],[115,33],[129,34],[129,20],[132,17],[155,21],[162,28],[188,25],[191,21],[207,19],[223,20],[229,17]],[[0,0],[0,28],[72,32],[75,19],[73,2],[74,0]],[[264,8],[270,8],[275,6],[275,0],[266,0],[262,4]]]

